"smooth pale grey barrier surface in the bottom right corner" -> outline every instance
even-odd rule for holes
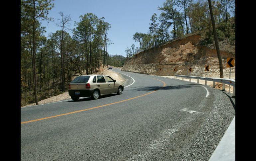
[[[235,116],[209,161],[235,161]]]

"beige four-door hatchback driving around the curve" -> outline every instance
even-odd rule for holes
[[[79,97],[98,99],[111,93],[120,95],[123,90],[124,85],[108,75],[81,75],[69,84],[68,94],[72,100],[77,101]]]

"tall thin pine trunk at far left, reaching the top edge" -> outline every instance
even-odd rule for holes
[[[33,11],[33,77],[34,77],[34,95],[35,95],[35,101],[36,105],[38,105],[38,99],[37,99],[37,80],[36,80],[36,26],[35,26],[35,0],[33,1],[34,5],[34,11]]]

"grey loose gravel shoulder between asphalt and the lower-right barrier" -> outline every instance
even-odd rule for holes
[[[235,99],[218,89],[213,89],[212,92],[212,111],[204,119],[192,141],[175,155],[180,161],[209,160],[235,116]]]

